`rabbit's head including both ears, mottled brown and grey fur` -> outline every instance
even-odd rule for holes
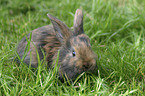
[[[48,14],[57,37],[61,42],[59,53],[59,76],[75,79],[82,72],[97,72],[96,55],[91,49],[90,39],[83,30],[83,13],[77,9],[74,30]],[[57,57],[55,55],[55,57]]]

